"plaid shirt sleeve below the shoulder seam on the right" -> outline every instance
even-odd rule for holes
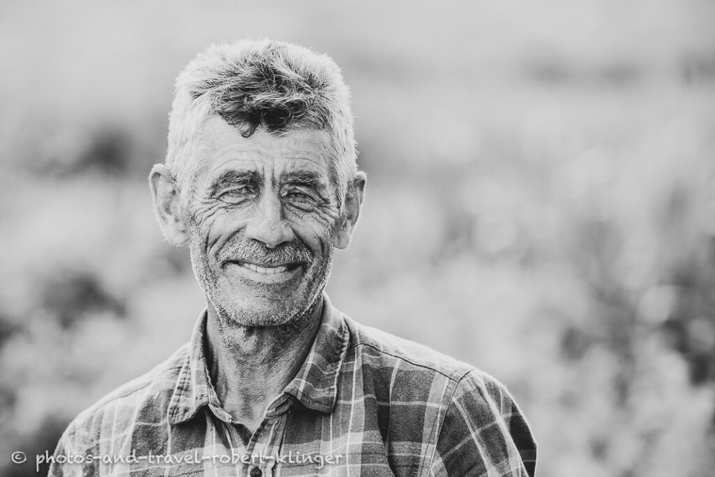
[[[533,477],[536,441],[506,387],[470,371],[458,383],[438,433],[432,475]]]

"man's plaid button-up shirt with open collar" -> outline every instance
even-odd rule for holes
[[[305,363],[250,435],[210,383],[205,323],[77,416],[49,475],[533,477],[536,443],[501,383],[327,297]]]

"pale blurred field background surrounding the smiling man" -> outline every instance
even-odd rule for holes
[[[2,2],[0,476],[188,340],[202,295],[146,177],[176,74],[243,36],[352,87],[338,308],[506,383],[541,476],[712,475],[714,25],[707,0]]]

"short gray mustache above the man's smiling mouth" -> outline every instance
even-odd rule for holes
[[[268,248],[255,240],[242,240],[230,247],[225,247],[221,255],[221,262],[251,262],[256,265],[272,267],[287,263],[311,265],[313,261],[310,249],[297,242]]]

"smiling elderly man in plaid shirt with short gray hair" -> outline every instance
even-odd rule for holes
[[[149,182],[207,309],[187,345],[70,424],[51,475],[533,476],[501,383],[325,295],[363,202],[355,159],[327,56],[240,41],[189,63]]]

